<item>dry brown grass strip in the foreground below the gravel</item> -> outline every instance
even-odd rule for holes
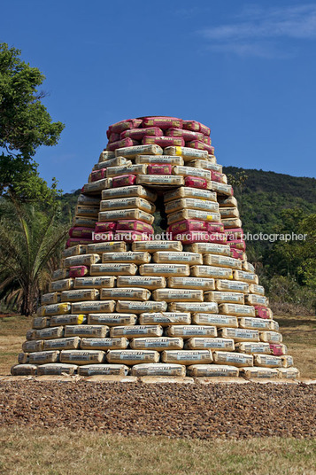
[[[169,440],[6,428],[0,441],[4,475],[316,473],[316,440]]]

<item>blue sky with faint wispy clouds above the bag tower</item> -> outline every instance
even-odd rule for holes
[[[173,115],[211,127],[219,163],[316,176],[316,3],[2,0],[0,41],[46,75],[66,128],[35,160],[80,188],[109,124]]]

